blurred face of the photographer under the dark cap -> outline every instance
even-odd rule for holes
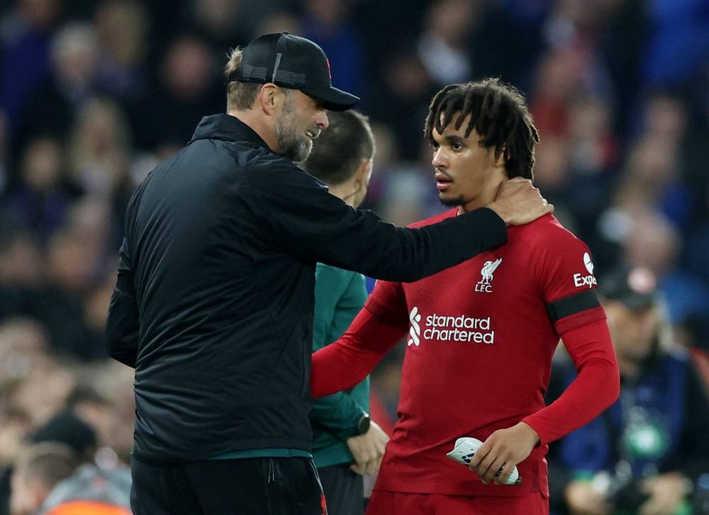
[[[607,301],[604,307],[618,358],[635,362],[647,358],[659,331],[657,306],[630,309],[623,302],[613,300]]]

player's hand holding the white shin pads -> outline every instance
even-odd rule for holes
[[[525,460],[539,442],[537,431],[524,422],[492,433],[470,461],[470,470],[477,472],[485,484],[503,483],[515,465]],[[498,470],[500,475],[495,477]]]

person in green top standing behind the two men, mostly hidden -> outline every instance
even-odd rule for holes
[[[374,159],[374,135],[357,111],[328,113],[303,169],[328,185],[331,194],[357,208],[367,196]],[[315,272],[313,352],[339,338],[364,301],[364,276],[318,263]],[[362,514],[363,474],[379,470],[389,437],[369,419],[369,377],[347,392],[316,399],[311,411],[313,460],[328,502],[338,515]]]

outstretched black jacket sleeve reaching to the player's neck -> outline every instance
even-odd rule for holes
[[[250,184],[275,243],[302,260],[411,282],[507,241],[505,223],[491,209],[423,228],[399,228],[347,206],[295,166],[255,171]]]

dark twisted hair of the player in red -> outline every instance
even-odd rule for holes
[[[437,92],[428,108],[425,138],[433,140],[432,131],[445,131],[458,113],[454,127],[460,128],[466,116],[467,138],[473,128],[480,135],[480,145],[495,148],[495,155],[505,157],[508,177],[532,179],[535,144],[539,133],[532,120],[525,97],[518,89],[498,78],[464,84],[451,84]],[[441,116],[442,115],[442,116]]]

